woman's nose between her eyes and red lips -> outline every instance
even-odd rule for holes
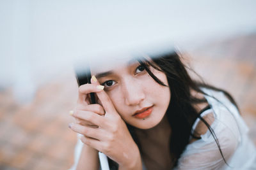
[[[128,106],[138,105],[145,99],[143,85],[140,83],[126,83],[124,85],[125,104]]]

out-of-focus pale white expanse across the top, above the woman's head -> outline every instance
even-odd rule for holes
[[[253,0],[0,0],[0,87],[33,96],[74,58],[106,48],[193,47],[255,32],[255,9]]]

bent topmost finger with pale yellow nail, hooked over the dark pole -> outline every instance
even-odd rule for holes
[[[89,104],[88,102],[88,94],[93,92],[102,91],[102,86],[96,84],[84,84],[81,85],[78,89],[78,100],[77,103],[80,104]]]

